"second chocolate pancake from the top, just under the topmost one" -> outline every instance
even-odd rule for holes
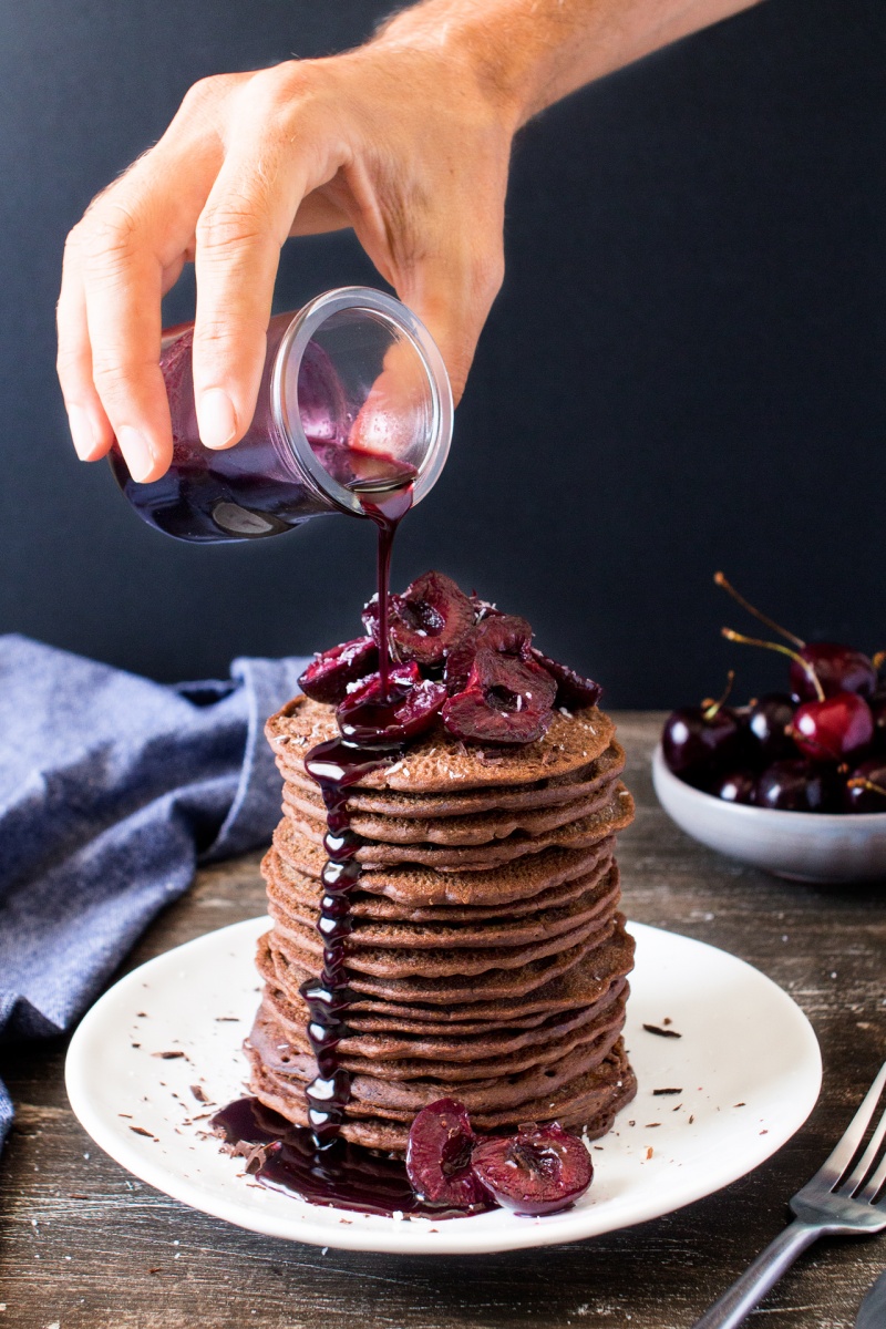
[[[288,785],[320,804],[313,780],[307,775],[303,760],[276,759],[278,769]],[[355,788],[348,795],[345,811],[379,813],[385,817],[461,817],[478,812],[507,812],[511,809],[547,808],[558,803],[595,793],[624,769],[624,751],[612,742],[606,752],[587,767],[550,780],[537,780],[526,785],[502,785],[487,789],[449,788],[442,793],[397,793],[392,789],[367,791]],[[355,823],[356,828],[356,823]],[[369,832],[371,833],[371,832]]]

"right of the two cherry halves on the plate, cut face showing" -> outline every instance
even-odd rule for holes
[[[511,1139],[482,1140],[470,1166],[502,1208],[533,1216],[569,1208],[594,1176],[591,1155],[557,1122],[521,1126]]]

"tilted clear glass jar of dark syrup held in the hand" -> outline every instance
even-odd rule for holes
[[[221,452],[199,440],[194,324],[163,332],[173,461],[138,484],[114,444],[114,477],[138,514],[178,540],[260,540],[310,517],[365,516],[360,496],[413,486],[420,502],[452,439],[449,377],[430,334],[381,291],[351,286],[275,315],[255,416]]]

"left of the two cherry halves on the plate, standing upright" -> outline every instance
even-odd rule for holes
[[[477,1142],[465,1106],[441,1098],[424,1107],[409,1127],[406,1175],[416,1195],[428,1204],[466,1209],[487,1203],[472,1171]]]

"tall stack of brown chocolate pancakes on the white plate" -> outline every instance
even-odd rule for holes
[[[250,1087],[306,1126],[317,1070],[299,989],[323,964],[325,808],[303,762],[336,736],[335,708],[299,696],[266,732],[284,801],[262,865],[274,926],[259,942]],[[614,732],[595,707],[557,711],[519,748],[437,727],[351,789],[347,1139],[402,1151],[440,1098],[460,1099],[480,1132],[559,1120],[592,1138],[632,1098],[620,1035],[634,944],[614,851],[634,804]]]

